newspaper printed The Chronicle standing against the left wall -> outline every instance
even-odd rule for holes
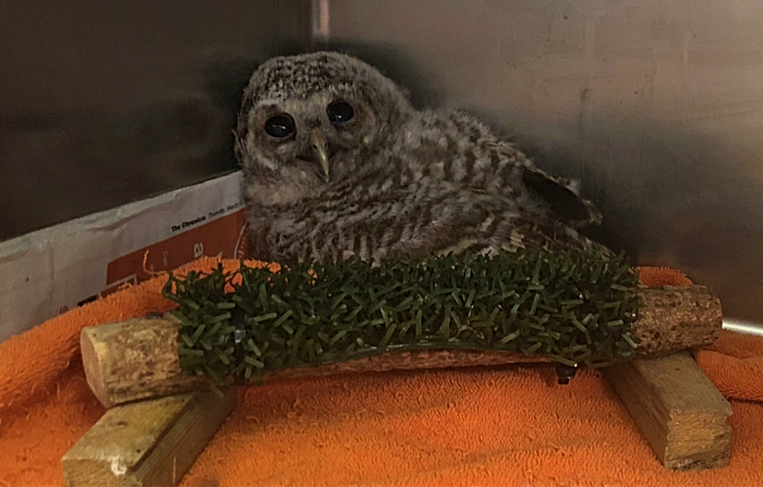
[[[0,342],[203,255],[243,257],[241,173],[0,243]]]

